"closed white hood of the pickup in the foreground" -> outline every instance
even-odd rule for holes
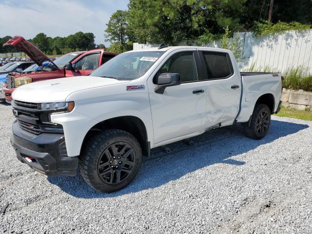
[[[65,101],[71,93],[80,90],[127,82],[129,80],[91,76],[50,79],[20,86],[12,93],[12,98],[35,103],[58,102]]]

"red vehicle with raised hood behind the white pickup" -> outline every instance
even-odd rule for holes
[[[41,66],[44,61],[49,61],[51,63],[50,66],[45,67],[44,69],[39,69],[31,74],[18,76],[10,74],[7,77],[7,82],[4,84],[2,90],[7,102],[11,102],[12,92],[23,84],[46,79],[86,76],[117,55],[116,53],[106,52],[103,49],[95,49],[90,51],[71,52],[52,61],[37,47],[22,37],[14,37],[4,44],[4,46],[6,45],[17,46],[38,66]]]

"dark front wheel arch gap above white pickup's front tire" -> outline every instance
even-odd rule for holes
[[[112,117],[95,124],[85,135],[80,148],[80,154],[87,140],[97,132],[101,132],[104,129],[119,129],[130,133],[137,138],[137,141],[142,148],[143,155],[150,155],[150,141],[148,140],[146,126],[144,122],[136,116]]]

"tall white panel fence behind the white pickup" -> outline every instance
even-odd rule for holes
[[[236,34],[234,36],[237,36]],[[312,30],[287,31],[276,36],[254,38],[251,32],[239,33],[243,48],[241,70],[254,67],[255,70],[285,71],[292,67],[304,66],[312,73]],[[193,45],[196,44],[196,41]],[[187,45],[186,42],[179,45]],[[133,43],[133,49],[158,47],[159,44]],[[220,41],[207,44],[220,47]]]

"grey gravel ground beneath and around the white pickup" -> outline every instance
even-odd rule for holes
[[[312,233],[311,121],[273,117],[259,141],[237,125],[154,149],[130,186],[100,194],[20,163],[11,107],[0,113],[1,233]]]

